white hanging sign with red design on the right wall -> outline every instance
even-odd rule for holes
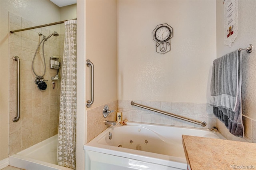
[[[238,34],[238,0],[224,1],[225,38],[224,44],[231,47]]]

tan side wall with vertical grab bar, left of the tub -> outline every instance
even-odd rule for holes
[[[116,0],[86,1],[86,59],[94,64],[94,103],[86,108],[84,142],[100,134],[104,125],[102,110],[115,110],[106,119],[116,120],[117,111],[117,17]],[[78,15],[79,17],[79,15]],[[90,68],[86,72],[86,101],[90,100]],[[85,103],[84,103],[85,106]],[[81,108],[82,110],[82,108]],[[80,124],[81,125],[81,124]],[[82,143],[81,143],[82,144]]]

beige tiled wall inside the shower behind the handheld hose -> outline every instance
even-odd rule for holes
[[[28,28],[36,25],[37,24],[34,24],[25,18],[9,13],[10,30]],[[37,85],[34,83],[34,78],[36,76],[32,72],[32,60],[34,53],[39,42],[42,40],[42,37],[38,36],[38,32],[48,36],[53,32],[53,30],[48,30],[47,28],[37,28],[34,30],[10,34],[10,155],[37,144],[38,142],[41,142],[42,140],[45,140],[51,136],[54,136],[58,132],[58,101],[60,98],[60,81],[55,83],[55,88],[53,89],[51,77],[56,75],[57,70],[50,69],[49,63],[51,55],[60,57],[61,36],[52,36],[44,44],[46,60],[46,74],[44,79],[48,80],[48,82],[46,82],[47,89],[45,91],[40,91]],[[42,46],[38,51],[39,53],[37,54],[34,62],[34,69],[37,74],[42,74],[44,73]],[[21,116],[20,120],[16,123],[12,121],[12,119],[16,117],[17,112],[17,62],[12,59],[13,55],[20,57],[21,61]]]

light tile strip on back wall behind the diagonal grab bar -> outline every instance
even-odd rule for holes
[[[206,127],[201,127],[187,121],[182,121],[167,115],[148,111],[146,109],[132,106],[132,100],[118,100],[118,111],[122,112],[123,119],[134,122],[154,123],[160,125],[174,125],[196,128],[216,127],[216,118],[212,115],[212,107],[208,103],[180,103],[164,101],[135,101],[137,104],[152,107],[154,109],[174,113],[198,121],[206,121]]]

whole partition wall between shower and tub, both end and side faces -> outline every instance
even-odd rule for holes
[[[77,1],[77,169],[84,169],[83,146],[90,137],[107,128],[102,119],[105,104],[117,110],[117,34],[116,1]],[[94,104],[86,108],[90,99],[90,68],[94,64]],[[86,95],[87,94],[87,95]],[[86,110],[85,110],[86,108]],[[89,113],[88,113],[89,112]],[[92,114],[90,114],[92,113]],[[111,117],[111,118],[110,118]],[[116,118],[111,115],[108,119]],[[89,123],[87,123],[89,121]],[[90,128],[93,127],[93,128]]]

